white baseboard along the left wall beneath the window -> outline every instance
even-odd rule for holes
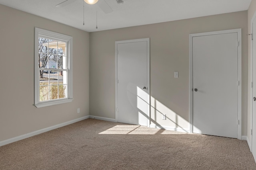
[[[47,132],[47,131],[51,131],[53,129],[57,129],[57,128],[60,128],[60,127],[63,127],[63,126],[66,126],[66,125],[70,125],[72,123],[76,123],[78,121],[82,121],[84,119],[88,119],[89,116],[84,116],[84,117],[80,117],[78,119],[74,119],[74,120],[71,120],[71,121],[67,121],[67,122],[64,122],[64,123],[60,123],[58,125],[54,125],[54,126],[51,126],[51,127],[46,127],[44,129],[40,129],[38,131],[34,131],[34,132],[30,132],[30,133],[26,133],[24,135],[20,135],[20,136],[17,136],[17,137],[13,137],[11,139],[6,139],[4,141],[0,141],[0,147],[1,146],[4,146],[4,145],[7,145],[9,143],[13,143],[13,142],[16,142],[16,141],[20,141],[22,139],[26,139],[28,137],[32,137],[32,136],[35,136],[35,135],[38,135],[40,133],[44,133],[44,132]]]

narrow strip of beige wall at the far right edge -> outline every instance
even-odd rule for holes
[[[252,0],[248,8],[248,33],[251,33],[251,20],[256,12],[256,0]],[[248,36],[248,101],[251,101],[251,37]],[[252,113],[251,113],[251,103],[248,102],[248,124],[247,124],[247,137],[248,141],[251,142],[251,129],[252,129]]]

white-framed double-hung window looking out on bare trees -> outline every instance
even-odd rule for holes
[[[72,101],[72,37],[35,28],[35,106]]]

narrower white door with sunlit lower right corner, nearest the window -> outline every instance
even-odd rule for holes
[[[148,125],[149,39],[116,42],[117,121]]]

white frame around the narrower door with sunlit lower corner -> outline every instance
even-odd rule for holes
[[[150,39],[149,38],[143,38],[143,39],[131,39],[131,40],[124,40],[124,41],[116,41],[115,42],[115,84],[116,84],[116,107],[115,107],[115,112],[116,112],[116,117],[115,117],[115,121],[118,121],[118,111],[117,111],[117,107],[118,107],[118,91],[117,91],[117,84],[118,84],[118,80],[117,80],[117,73],[118,73],[118,69],[117,69],[117,55],[118,55],[118,49],[117,49],[117,45],[118,44],[122,44],[122,43],[134,43],[134,42],[141,42],[141,41],[147,41],[147,94],[148,94],[148,108],[147,108],[147,125],[148,127],[150,126]]]

